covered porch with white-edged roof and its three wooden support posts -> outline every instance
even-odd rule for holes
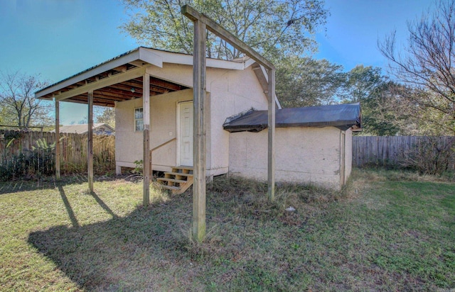
[[[152,76],[152,67],[163,67],[166,52],[156,55],[154,50],[138,47],[111,60],[91,67],[56,84],[36,92],[39,99],[55,101],[55,135],[60,136],[60,101],[87,104],[88,145],[87,176],[90,191],[93,191],[93,106],[115,107],[117,103],[142,99],[144,205],[149,201],[151,180],[150,111],[151,96],[190,89],[188,84],[178,84],[168,79]],[[191,56],[181,57],[191,61]],[[187,61],[188,62],[188,61]],[[55,176],[60,178],[60,141],[55,145]]]

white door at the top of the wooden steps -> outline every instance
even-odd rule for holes
[[[193,101],[178,103],[180,165],[193,166]]]

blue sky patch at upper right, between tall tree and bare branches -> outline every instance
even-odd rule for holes
[[[342,64],[349,71],[358,64],[387,67],[378,51],[378,39],[383,40],[397,30],[399,43],[407,42],[407,21],[422,16],[433,1],[430,0],[326,0],[331,12],[327,32],[316,35],[319,53]]]

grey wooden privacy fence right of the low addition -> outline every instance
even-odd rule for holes
[[[444,157],[447,170],[455,169],[455,137],[354,136],[353,166],[407,167],[412,160],[424,164]]]

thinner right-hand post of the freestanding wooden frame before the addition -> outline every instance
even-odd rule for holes
[[[275,69],[269,68],[268,71],[268,164],[267,164],[267,194],[270,200],[275,198]]]

